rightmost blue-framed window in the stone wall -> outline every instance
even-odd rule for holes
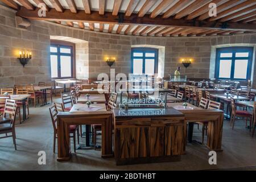
[[[253,47],[225,47],[216,51],[215,77],[224,80],[250,80]]]

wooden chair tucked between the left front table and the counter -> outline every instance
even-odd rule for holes
[[[107,110],[113,110],[117,107],[117,93],[110,94],[109,102],[108,102],[108,109]],[[94,143],[94,150],[96,150],[96,137],[97,137],[97,131],[101,131],[101,125],[92,125],[93,127],[93,143]]]

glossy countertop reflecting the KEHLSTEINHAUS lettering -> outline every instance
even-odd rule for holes
[[[184,117],[174,108],[164,107],[137,107],[125,109],[113,109],[115,118],[160,118],[160,117]]]

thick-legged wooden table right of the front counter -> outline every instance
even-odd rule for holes
[[[207,147],[209,150],[222,151],[222,127],[224,122],[224,111],[217,109],[201,109],[188,104],[187,109],[182,103],[168,103],[168,107],[173,107],[185,115],[188,123],[188,140],[192,142],[193,122],[208,121]]]

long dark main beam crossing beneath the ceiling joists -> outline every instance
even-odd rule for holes
[[[250,31],[256,30],[254,24],[249,23],[237,23],[237,22],[208,22],[197,20],[185,20],[185,19],[163,19],[160,15],[156,18],[150,18],[150,15],[144,15],[138,17],[137,14],[131,14],[131,16],[125,16],[119,13],[119,16],[123,18],[118,19],[117,16],[113,16],[110,12],[105,12],[105,15],[99,15],[98,11],[92,11],[91,14],[85,14],[84,10],[77,10],[77,14],[72,13],[70,10],[65,10],[63,13],[52,9],[46,16],[39,17],[38,9],[29,11],[24,7],[21,7],[17,11],[16,16],[21,16],[28,19],[38,20],[50,20],[50,21],[63,21],[63,22],[89,22],[89,23],[115,23],[115,24],[134,24],[141,26],[164,26],[164,27],[182,27],[182,28],[211,28],[211,29],[226,29],[234,31]]]

